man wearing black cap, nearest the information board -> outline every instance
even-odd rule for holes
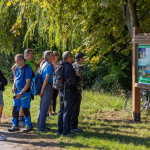
[[[77,53],[75,55],[75,62],[72,64],[73,68],[76,71],[76,82],[77,82],[77,91],[75,94],[75,104],[73,106],[73,113],[71,117],[71,123],[70,123],[70,128],[72,131],[75,132],[82,132],[83,130],[78,129],[78,116],[80,112],[80,104],[81,104],[81,99],[82,99],[82,72],[83,72],[83,67],[82,63],[84,62],[84,54],[83,53]]]

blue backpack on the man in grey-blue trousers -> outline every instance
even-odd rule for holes
[[[45,65],[45,64],[44,64]],[[37,75],[35,75],[32,80],[31,80],[31,84],[30,84],[30,92],[33,95],[39,95],[41,92],[41,88],[43,85],[42,82],[42,72],[43,70],[48,66],[49,64],[45,65],[44,67],[42,67],[41,69],[38,70]]]

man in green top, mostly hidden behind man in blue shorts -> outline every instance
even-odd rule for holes
[[[31,48],[25,49],[24,50],[24,57],[25,57],[26,64],[28,64],[31,67],[34,75],[36,75],[36,66],[35,66],[34,61],[33,61],[34,50]],[[17,64],[15,63],[13,65],[13,67],[11,68],[13,73],[15,72],[16,67],[17,67]],[[33,95],[31,95],[31,99],[34,99]],[[25,125],[25,118],[24,118],[23,109],[21,107],[20,111],[19,111],[19,126],[24,126],[24,125]]]

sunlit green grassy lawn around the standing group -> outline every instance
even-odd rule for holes
[[[79,128],[83,133],[73,137],[58,137],[57,115],[48,120],[51,132],[36,132],[36,119],[40,104],[39,96],[31,102],[31,117],[34,134],[38,139],[53,139],[58,141],[60,148],[70,150],[147,150],[150,149],[150,111],[142,112],[141,122],[133,123],[132,117],[123,110],[124,97],[84,91],[79,117]],[[4,114],[11,116],[12,112],[11,86],[4,92]],[[57,100],[57,112],[59,99]]]

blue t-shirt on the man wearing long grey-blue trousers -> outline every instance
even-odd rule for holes
[[[43,64],[42,69],[44,66],[46,67],[44,68],[42,72],[42,81],[44,82],[46,75],[50,75],[48,82],[53,83],[53,66],[47,61]]]

